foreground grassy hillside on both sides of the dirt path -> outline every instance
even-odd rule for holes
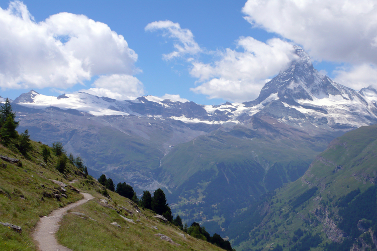
[[[109,191],[110,195],[104,197],[103,186],[90,176],[85,178],[70,163],[66,172],[58,172],[57,157],[51,155],[48,163],[44,163],[42,144],[32,142],[32,146],[33,150],[25,158],[0,145],[0,155],[22,162],[16,165],[0,160],[0,221],[22,227],[19,233],[0,225],[0,250],[37,250],[31,237],[36,223],[52,210],[81,199],[82,195],[74,187],[95,197],[65,215],[56,234],[59,242],[74,250],[222,250],[183,233],[170,223],[160,222],[153,217],[153,211],[139,209],[116,193]],[[69,181],[78,181],[63,191],[52,180],[67,185]],[[57,199],[55,194],[67,197]],[[101,202],[104,199],[107,204]],[[117,222],[121,228],[110,224],[112,222]],[[176,244],[160,239],[157,233],[167,235]]]

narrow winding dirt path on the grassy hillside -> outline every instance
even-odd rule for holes
[[[59,229],[59,222],[61,218],[69,209],[82,205],[94,198],[88,193],[81,194],[84,196],[83,199],[52,211],[48,217],[40,218],[39,222],[37,223],[36,230],[33,233],[33,237],[39,242],[39,249],[41,251],[72,251],[72,249],[58,244],[55,239],[55,233]]]

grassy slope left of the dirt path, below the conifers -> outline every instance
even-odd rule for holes
[[[52,157],[47,165],[42,163],[40,155],[41,144],[33,142],[34,150],[28,158],[0,145],[0,154],[22,161],[22,166],[13,165],[0,160],[0,221],[22,227],[22,233],[17,233],[0,225],[0,250],[37,250],[31,233],[39,217],[48,215],[52,210],[75,202],[82,195],[67,188],[67,198],[49,198],[60,190],[60,187],[49,179],[68,181],[78,178],[69,166],[66,175],[62,175],[54,168],[56,157]],[[2,164],[7,164],[3,168]],[[43,184],[44,187],[41,185]]]

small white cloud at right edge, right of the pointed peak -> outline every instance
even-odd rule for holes
[[[348,86],[354,90],[360,90],[366,86],[377,88],[377,68],[370,64],[339,68],[334,71],[335,82]]]

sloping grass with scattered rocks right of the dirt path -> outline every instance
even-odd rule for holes
[[[86,183],[80,182],[78,188],[90,188]],[[63,245],[74,250],[222,250],[206,241],[193,238],[182,232],[170,223],[163,223],[153,218],[155,213],[151,210],[139,209],[138,213],[130,204],[130,200],[114,192],[109,192],[111,199],[103,197],[93,189],[89,192],[95,199],[79,207],[72,212],[84,213],[86,219],[75,214],[67,214],[63,217],[61,227],[57,232],[57,238]],[[101,199],[107,199],[114,208],[122,206],[133,212],[133,215],[125,210],[116,210],[104,207]],[[132,202],[131,202],[132,203]],[[136,224],[127,222],[120,215],[134,220]],[[94,220],[89,219],[91,217]],[[111,225],[117,222],[121,228]],[[158,230],[151,226],[157,226]],[[74,233],[74,234],[72,234]],[[171,244],[156,233],[162,233],[173,239],[179,246]],[[185,234],[183,237],[181,234]]]

